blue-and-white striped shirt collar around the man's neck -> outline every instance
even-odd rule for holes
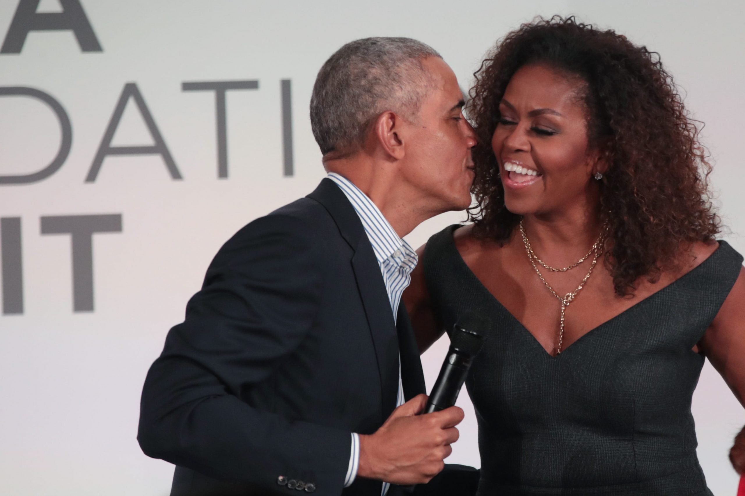
[[[378,264],[383,264],[388,258],[396,261],[396,264],[413,269],[416,265],[416,252],[410,245],[399,238],[393,226],[384,217],[378,206],[373,203],[355,184],[335,172],[329,173],[329,179],[334,181],[341,189],[343,194],[352,203],[352,207],[357,212],[362,222],[362,227],[373,245],[375,258]]]

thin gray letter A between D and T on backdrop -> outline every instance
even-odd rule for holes
[[[127,106],[127,101],[129,101],[130,98],[134,98],[140,115],[142,115],[142,119],[148,126],[150,136],[153,137],[153,142],[155,142],[155,144],[139,147],[111,146],[111,140],[114,138],[114,133],[119,125],[119,121],[121,121],[121,115],[124,114],[124,107]],[[173,179],[181,179],[181,174],[176,168],[176,162],[174,162],[171,153],[168,151],[168,147],[165,146],[165,141],[163,141],[163,137],[153,120],[153,115],[150,114],[150,110],[148,110],[148,106],[145,104],[145,99],[142,98],[142,94],[139,92],[136,83],[127,83],[121,91],[121,96],[119,97],[119,101],[114,109],[114,114],[111,116],[111,121],[109,121],[109,127],[106,128],[104,138],[101,139],[101,144],[98,146],[98,151],[95,153],[91,169],[88,171],[88,175],[86,176],[86,182],[95,182],[95,178],[98,177],[98,172],[101,171],[101,165],[104,163],[104,158],[106,158],[107,155],[153,154],[162,156],[163,162],[165,162],[165,167],[168,168],[168,172],[171,174]]]

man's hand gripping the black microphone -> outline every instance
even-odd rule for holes
[[[417,416],[427,404],[418,395],[393,410],[374,434],[360,436],[359,477],[399,485],[424,484],[439,474],[458,439],[463,410],[450,407]]]

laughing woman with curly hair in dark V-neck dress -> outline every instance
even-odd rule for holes
[[[708,357],[743,401],[745,269],[670,74],[554,18],[476,76],[478,208],[420,249],[405,303],[422,351],[491,321],[466,381],[479,495],[710,495],[691,396]]]

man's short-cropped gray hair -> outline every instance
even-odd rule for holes
[[[416,121],[435,84],[422,66],[427,57],[442,58],[410,38],[364,38],[339,48],[318,71],[311,96],[311,128],[321,153],[361,144],[387,110]]]

